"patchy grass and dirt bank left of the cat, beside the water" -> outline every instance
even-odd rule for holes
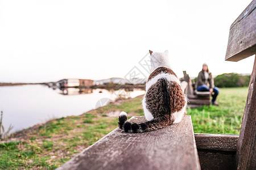
[[[0,164],[5,169],[55,169],[118,127],[118,116],[143,115],[142,96],[80,114],[49,120],[0,142]]]

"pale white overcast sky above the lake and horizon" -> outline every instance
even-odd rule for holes
[[[0,82],[125,77],[149,49],[168,49],[179,77],[205,62],[213,75],[251,73],[254,57],[224,60],[250,2],[0,0]]]

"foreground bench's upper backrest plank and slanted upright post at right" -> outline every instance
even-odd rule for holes
[[[240,61],[256,54],[256,1],[230,26],[226,61]],[[237,143],[237,169],[256,169],[256,58],[243,113],[240,137]]]

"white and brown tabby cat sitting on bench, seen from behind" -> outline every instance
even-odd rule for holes
[[[127,113],[119,114],[119,128],[127,133],[143,133],[165,128],[180,122],[187,107],[187,99],[181,88],[180,80],[168,59],[168,50],[156,53],[149,50],[151,74],[146,83],[146,94],[142,100],[147,122],[131,124]]]

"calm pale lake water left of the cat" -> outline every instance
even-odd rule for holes
[[[44,85],[0,87],[0,111],[3,111],[3,125],[12,131],[46,122],[53,118],[79,115],[115,100],[119,95],[136,97],[144,90],[125,91],[104,89],[66,88],[60,90]]]

